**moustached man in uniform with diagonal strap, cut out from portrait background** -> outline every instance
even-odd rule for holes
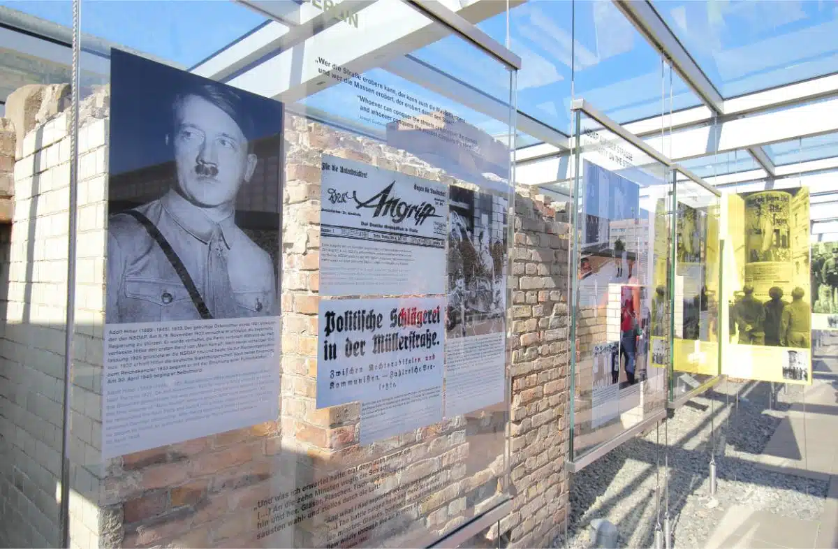
[[[176,181],[109,220],[106,322],[277,314],[271,257],[235,225],[236,195],[257,162],[241,96],[193,85],[167,107]]]

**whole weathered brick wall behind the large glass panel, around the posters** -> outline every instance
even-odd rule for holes
[[[416,545],[418,526],[451,531],[476,510],[515,495],[515,512],[488,541],[546,546],[564,520],[567,484],[567,227],[544,199],[517,198],[513,245],[512,484],[504,479],[503,406],[361,447],[358,405],[315,409],[319,196],[323,153],[446,184],[427,163],[348,133],[287,117],[282,241],[281,417],[254,427],[101,463],[101,363],[106,246],[107,95],[82,109],[75,385],[71,393],[72,546],[254,546],[266,497],[393,456],[385,493],[411,483],[388,526],[393,546]],[[58,489],[69,183],[66,116],[28,132],[15,164],[7,323],[0,341],[0,541],[54,545]],[[3,260],[6,256],[0,256]],[[385,471],[386,473],[386,471]],[[307,521],[274,545],[323,546],[334,525]],[[334,533],[334,532],[332,532]],[[431,540],[427,540],[431,541]]]

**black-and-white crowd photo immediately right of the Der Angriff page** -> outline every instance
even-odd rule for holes
[[[506,199],[449,187],[449,337],[504,331]]]

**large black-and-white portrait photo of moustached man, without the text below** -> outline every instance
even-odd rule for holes
[[[278,315],[282,103],[111,62],[106,323]]]

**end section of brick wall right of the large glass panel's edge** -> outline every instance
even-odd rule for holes
[[[500,521],[512,546],[550,546],[567,505],[569,226],[546,198],[515,197],[510,467],[514,511]]]

